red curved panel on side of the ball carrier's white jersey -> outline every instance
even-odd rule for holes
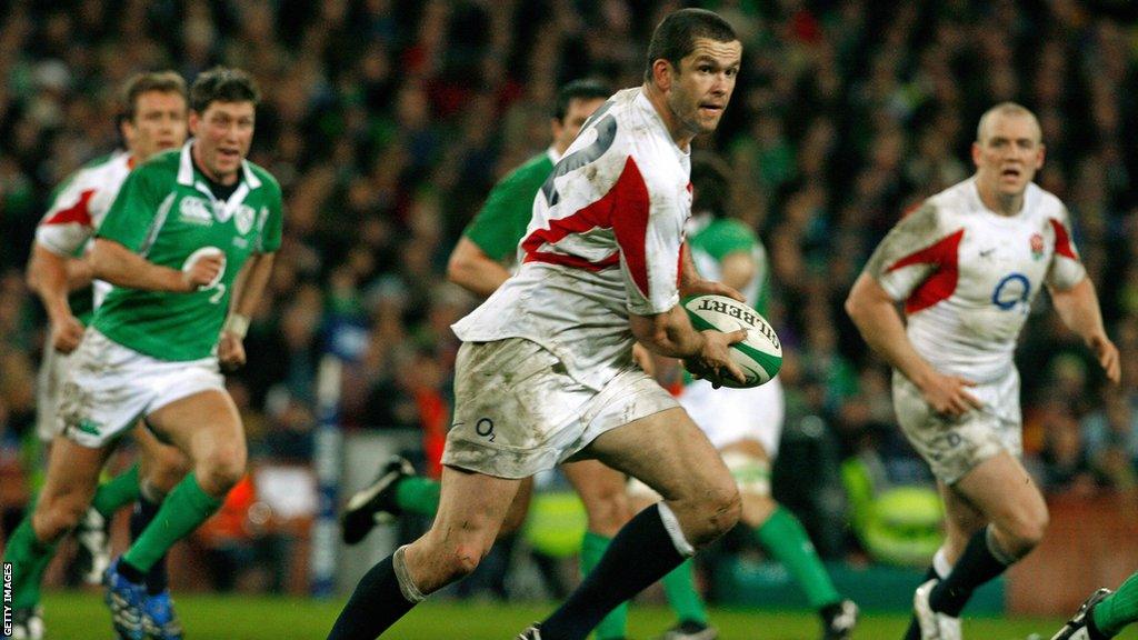
[[[640,203],[643,204],[640,204]],[[643,210],[643,214],[637,212]],[[615,215],[616,212],[619,215]],[[635,247],[626,246],[626,236],[636,237],[636,220],[643,219],[640,223],[638,252]],[[648,290],[648,270],[644,268],[644,233],[648,229],[648,187],[636,167],[632,157],[625,163],[625,170],[620,178],[609,189],[609,192],[601,199],[579,210],[572,215],[551,220],[549,229],[538,229],[521,241],[521,248],[526,252],[525,262],[544,262],[546,264],[560,264],[575,269],[586,269],[588,271],[601,271],[616,266],[619,261],[619,252],[605,256],[597,262],[591,262],[578,255],[566,255],[561,253],[542,252],[542,245],[553,245],[571,233],[585,233],[592,229],[613,229],[617,236],[617,244],[625,254],[625,261],[633,270],[633,278],[636,276],[636,256],[638,255],[640,271],[642,272],[643,285],[637,279],[637,286]]]

